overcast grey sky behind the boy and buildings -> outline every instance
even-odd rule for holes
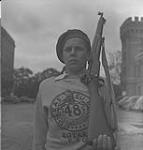
[[[120,26],[128,18],[143,16],[143,0],[4,0],[2,25],[15,40],[15,68],[34,72],[58,70],[55,46],[61,33],[78,28],[93,39],[98,11],[106,18],[107,51],[121,50]]]

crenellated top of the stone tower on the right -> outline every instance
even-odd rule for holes
[[[120,27],[121,39],[135,34],[143,34],[143,17],[129,17]]]

